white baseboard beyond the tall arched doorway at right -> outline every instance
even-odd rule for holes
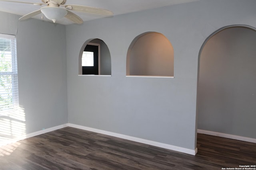
[[[212,136],[218,136],[218,137],[225,137],[225,138],[229,138],[229,139],[236,139],[236,140],[239,140],[239,141],[246,141],[246,142],[256,143],[256,139],[249,138],[249,137],[241,137],[241,136],[236,136],[236,135],[230,135],[230,134],[226,134],[226,133],[205,131],[205,130],[201,130],[201,129],[197,129],[197,133],[202,133],[202,134],[212,135]]]

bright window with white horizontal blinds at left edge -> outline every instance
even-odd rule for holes
[[[18,109],[16,39],[0,34],[0,115]]]

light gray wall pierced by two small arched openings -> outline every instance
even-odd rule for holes
[[[220,27],[255,27],[255,7],[254,0],[203,0],[68,25],[68,121],[194,149],[200,48]],[[147,31],[172,43],[174,79],[125,77],[128,47]],[[112,77],[78,76],[80,47],[92,37],[108,45]]]

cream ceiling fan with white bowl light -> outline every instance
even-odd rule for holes
[[[109,10],[104,10],[101,8],[94,8],[90,6],[81,6],[81,5],[64,5],[66,4],[66,0],[42,0],[43,3],[31,3],[31,2],[20,2],[20,1],[12,1],[12,0],[0,0],[0,1],[6,1],[6,2],[18,2],[23,4],[33,4],[38,6],[43,6],[39,10],[36,10],[34,12],[31,12],[29,14],[26,14],[22,16],[19,20],[26,20],[28,18],[31,18],[33,16],[36,16],[38,14],[44,14],[46,18],[49,20],[52,20],[54,23],[57,20],[60,20],[62,18],[67,18],[68,20],[71,20],[74,23],[83,23],[83,20],[76,14],[74,14],[71,11],[78,11],[78,12],[84,12],[88,14],[98,14],[103,16],[112,16],[113,12]],[[64,7],[64,8],[61,8]]]

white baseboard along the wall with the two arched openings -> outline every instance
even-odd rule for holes
[[[160,147],[160,148],[164,148],[164,149],[175,150],[175,151],[183,152],[183,153],[187,153],[187,154],[196,155],[196,153],[197,153],[197,148],[194,149],[194,150],[193,149],[186,149],[186,148],[182,148],[182,147],[168,145],[168,144],[165,144],[165,143],[159,143],[159,142],[150,141],[150,140],[146,140],[146,139],[141,139],[141,138],[137,138],[137,137],[131,137],[131,136],[128,136],[128,135],[122,135],[122,134],[119,134],[119,133],[113,133],[113,132],[104,131],[104,130],[100,130],[100,129],[94,129],[94,128],[91,128],[91,127],[75,125],[75,124],[72,124],[72,123],[68,123],[68,127],[74,127],[74,128],[78,128],[78,129],[82,129],[82,130],[86,130],[86,131],[101,133],[101,134],[104,134],[104,135],[109,135],[109,136],[113,136],[113,137],[127,139],[127,140],[130,140],[130,141],[144,143],[144,144],[147,144],[147,145],[152,145],[152,146]]]

